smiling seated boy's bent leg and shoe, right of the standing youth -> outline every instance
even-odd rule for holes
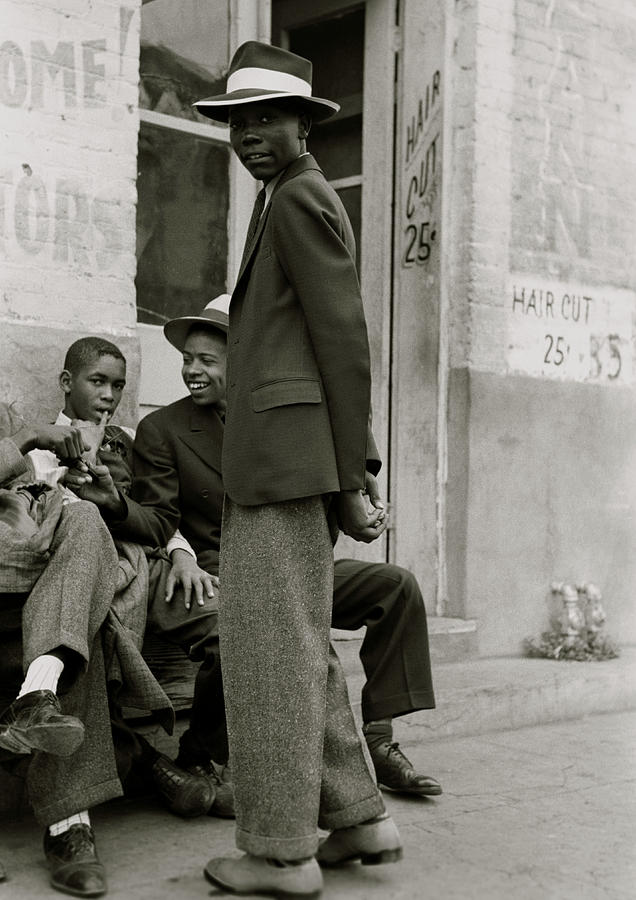
[[[366,625],[363,730],[379,783],[417,796],[441,794],[439,782],[419,774],[393,740],[394,717],[435,707],[426,609],[415,577],[400,566],[338,560],[333,625]]]

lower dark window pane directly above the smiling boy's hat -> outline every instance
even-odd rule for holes
[[[141,124],[137,314],[160,325],[226,289],[229,148]]]

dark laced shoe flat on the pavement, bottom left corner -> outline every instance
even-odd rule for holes
[[[52,837],[44,834],[44,854],[51,886],[73,897],[101,897],[107,891],[106,873],[97,858],[95,837],[89,825],[71,825]]]

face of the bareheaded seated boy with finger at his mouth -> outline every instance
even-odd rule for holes
[[[119,406],[126,386],[126,364],[115,356],[100,356],[74,374],[64,369],[60,385],[69,418],[99,422],[103,412],[110,418]]]

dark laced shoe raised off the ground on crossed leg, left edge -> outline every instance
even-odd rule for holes
[[[62,714],[52,691],[30,691],[0,717],[0,747],[15,754],[41,750],[54,756],[71,756],[84,740],[84,725],[75,716]]]

